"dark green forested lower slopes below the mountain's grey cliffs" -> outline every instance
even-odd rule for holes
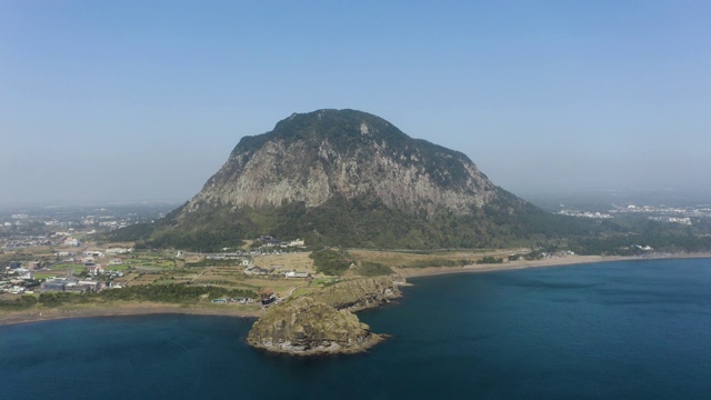
[[[157,223],[143,236],[143,246],[217,251],[270,233],[286,239],[303,238],[316,248],[504,248],[554,238],[588,237],[600,230],[589,221],[549,214],[502,192],[501,206],[472,209],[470,214],[459,216],[448,211],[430,217],[412,214],[390,209],[372,197],[351,200],[334,197],[311,209],[303,203],[260,210],[214,207],[202,213],[189,213],[180,223]],[[132,234],[121,231],[112,240]]]

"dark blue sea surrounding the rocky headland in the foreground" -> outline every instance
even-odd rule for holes
[[[711,259],[420,278],[360,313],[392,339],[299,359],[253,320],[0,327],[2,399],[711,399]]]

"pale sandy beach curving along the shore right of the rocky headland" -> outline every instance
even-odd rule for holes
[[[478,273],[512,271],[529,268],[565,267],[599,262],[614,261],[644,261],[663,259],[690,259],[711,258],[711,252],[702,253],[658,253],[650,256],[565,256],[543,260],[517,260],[503,263],[470,264],[464,267],[427,267],[427,268],[393,268],[393,270],[407,278],[435,277],[453,273]]]

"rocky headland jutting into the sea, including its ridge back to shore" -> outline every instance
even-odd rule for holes
[[[401,296],[392,277],[339,282],[270,307],[252,326],[247,343],[293,356],[360,352],[385,336],[373,333],[351,311],[378,307]]]

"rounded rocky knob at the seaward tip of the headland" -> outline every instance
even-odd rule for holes
[[[247,338],[254,348],[296,356],[356,353],[382,340],[352,312],[310,297],[269,308]]]

